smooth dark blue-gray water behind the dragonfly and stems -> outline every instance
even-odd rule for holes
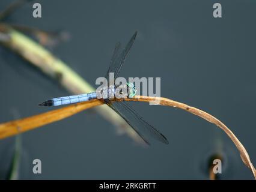
[[[11,1],[2,0],[1,10]],[[38,1],[42,18],[27,4],[6,22],[71,38],[52,52],[92,85],[108,68],[117,41],[138,38],[126,60],[125,77],[161,77],[162,97],[206,110],[221,119],[256,163],[256,2],[218,1]],[[49,110],[40,101],[68,93],[37,69],[0,47],[0,121]],[[215,125],[182,110],[133,104],[170,144],[136,145],[94,110],[22,134],[20,179],[207,179],[207,155],[222,146],[223,179],[252,179],[239,152]],[[16,115],[15,115],[16,114]],[[0,168],[10,164],[14,137],[0,141]],[[32,160],[42,174],[32,173]],[[9,164],[8,164],[9,162]]]

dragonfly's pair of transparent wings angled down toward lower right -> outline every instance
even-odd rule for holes
[[[132,109],[125,101],[111,102],[106,99],[106,104],[117,112],[132,128],[138,133],[138,135],[149,145],[147,135],[154,137],[165,144],[169,144],[168,140],[159,130],[148,124],[142,116]]]

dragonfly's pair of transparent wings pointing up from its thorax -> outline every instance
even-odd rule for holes
[[[124,48],[124,50],[122,52],[120,51],[121,44],[120,43],[116,44],[108,71],[105,76],[106,79],[109,79],[109,73],[115,73],[115,78],[118,77],[120,70],[123,67],[126,56],[129,53],[130,48],[132,47],[132,45],[135,41],[136,35],[137,35],[137,32],[135,32],[135,34],[133,34],[132,38],[130,38],[130,41],[127,43],[126,47]]]

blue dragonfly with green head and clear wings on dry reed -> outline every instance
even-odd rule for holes
[[[124,61],[126,60],[126,57],[135,41],[136,35],[137,35],[137,32],[133,34],[132,38],[130,38],[129,42],[126,44],[124,49],[121,49],[121,43],[117,43],[115,45],[111,62],[109,64],[108,71],[105,75],[106,79],[109,79],[110,73],[114,73],[115,79],[119,76],[121,68],[124,65]],[[147,145],[150,145],[148,136],[151,136],[162,143],[169,144],[166,137],[163,136],[163,134],[160,133],[159,130],[157,130],[152,125],[150,125],[147,121],[145,121],[145,119],[142,118],[142,116],[139,115],[138,112],[136,112],[134,109],[132,109],[132,107],[130,107],[127,101],[118,99],[118,101],[114,102],[111,98],[109,98],[110,92],[115,92],[118,88],[119,86],[116,86],[116,85],[111,86],[109,84],[103,87],[103,89],[105,89],[108,94],[108,97],[103,98],[103,101],[105,102],[105,104],[107,104],[109,107],[111,107],[112,110],[118,113],[118,115],[120,115],[121,118],[123,118],[124,121],[126,121],[127,124],[129,124],[130,127],[133,128],[133,130],[138,134],[138,136],[141,137],[141,139],[144,140],[145,143],[147,143]],[[128,82],[126,85],[126,89],[127,89],[127,95],[129,98],[133,98],[136,95],[137,89],[133,82]],[[120,89],[120,90],[123,90],[123,89]],[[90,100],[98,99],[99,97],[97,97],[98,96],[97,94],[98,93],[95,91],[95,92],[90,92],[88,94],[79,94],[79,95],[71,95],[66,97],[52,98],[38,105],[39,106],[62,106],[65,104],[90,101]],[[115,94],[114,94],[114,98],[116,98]]]

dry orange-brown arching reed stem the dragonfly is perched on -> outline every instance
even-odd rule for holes
[[[211,122],[212,124],[217,125],[221,128],[225,133],[230,137],[230,139],[234,142],[237,149],[240,152],[240,157],[242,158],[243,163],[251,169],[254,178],[256,179],[256,170],[251,163],[248,152],[242,143],[237,139],[234,133],[228,129],[228,127],[223,124],[219,119],[210,115],[209,113],[204,112],[203,110],[197,109],[195,107],[188,106],[187,104],[180,103],[177,101],[169,100],[168,98],[162,97],[144,97],[144,96],[136,96],[135,98],[127,98],[126,101],[142,101],[142,102],[154,102],[159,101],[159,104],[162,106],[170,106],[177,107],[178,109],[186,110],[189,113],[200,116],[206,121]],[[34,128],[40,127],[42,125],[49,124],[51,122],[59,121],[61,119],[67,118],[69,116],[75,115],[82,110],[100,106],[104,104],[101,100],[92,100],[86,101],[83,103],[73,104],[67,107],[62,107],[61,109],[52,110],[50,112],[41,113],[40,115],[31,116],[29,118],[19,119],[16,121],[6,122],[4,124],[0,124],[0,139],[4,139],[8,136],[13,136],[15,134],[23,133],[28,130],[32,130]]]

